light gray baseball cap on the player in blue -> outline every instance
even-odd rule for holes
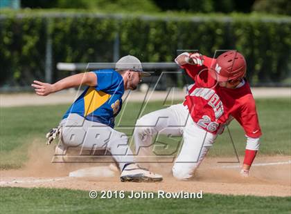
[[[150,76],[149,72],[143,71],[143,66],[141,66],[141,61],[132,55],[127,55],[125,57],[121,57],[116,62],[115,70],[133,70],[136,72],[141,72],[141,76]]]

